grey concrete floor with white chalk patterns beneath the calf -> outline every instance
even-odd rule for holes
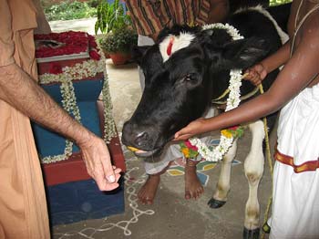
[[[123,122],[129,119],[140,99],[138,69],[134,64],[116,67],[110,60],[107,61],[107,68],[114,119],[120,131]],[[216,137],[218,138],[218,135]],[[243,161],[249,144],[250,133],[247,131],[239,142],[236,160]],[[231,192],[228,202],[220,209],[211,209],[207,205],[219,177],[220,164],[203,172],[209,176],[209,181],[199,200],[184,200],[183,176],[171,176],[166,172],[161,176],[155,203],[141,205],[137,202],[137,192],[146,180],[143,164],[129,151],[124,151],[128,168],[125,213],[99,220],[56,226],[53,238],[242,238],[244,208],[248,196],[248,184],[243,174],[242,163],[232,166]],[[272,181],[266,162],[259,187],[261,224],[271,188]]]

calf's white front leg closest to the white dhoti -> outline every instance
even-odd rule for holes
[[[260,208],[257,193],[264,165],[262,141],[265,136],[262,120],[250,124],[249,129],[252,131],[252,147],[244,162],[245,176],[249,184],[249,197],[245,209],[243,237],[259,238]]]

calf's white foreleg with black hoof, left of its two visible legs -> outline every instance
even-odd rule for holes
[[[235,158],[236,151],[237,140],[234,140],[232,147],[221,161],[220,178],[217,182],[216,190],[208,203],[211,208],[219,208],[227,201],[227,194],[231,189],[232,160]]]

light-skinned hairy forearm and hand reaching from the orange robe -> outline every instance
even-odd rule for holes
[[[112,168],[104,140],[70,117],[15,63],[0,67],[0,99],[46,128],[74,140],[81,149],[88,174],[100,190],[118,187],[120,170]]]

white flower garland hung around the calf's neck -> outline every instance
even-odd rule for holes
[[[202,26],[202,30],[208,29],[225,29],[232,36],[232,40],[242,39],[238,30],[229,24],[211,24]],[[225,111],[235,109],[241,102],[241,86],[242,86],[242,69],[232,69],[230,71],[229,98],[227,99]],[[222,156],[231,148],[234,137],[242,135],[241,127],[236,130],[221,130],[221,140],[218,146],[212,151],[198,138],[191,138],[190,143],[198,148],[202,158],[206,161],[221,161]]]

